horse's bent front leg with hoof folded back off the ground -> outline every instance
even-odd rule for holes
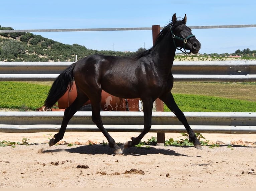
[[[131,141],[127,141],[124,144],[124,148],[132,147],[140,143],[141,139],[147,134],[151,128],[151,117],[153,109],[153,100],[141,99],[143,103],[143,114],[144,114],[144,128],[143,131],[137,137],[131,137]]]

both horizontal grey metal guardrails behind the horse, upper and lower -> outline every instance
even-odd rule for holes
[[[0,81],[53,81],[72,62],[0,62]],[[256,81],[256,61],[175,61],[175,81]],[[184,112],[191,128],[198,133],[256,134],[256,113]],[[0,132],[52,132],[60,128],[63,112],[0,112]],[[102,112],[108,131],[141,132],[143,112]],[[52,124],[54,123],[54,124]],[[77,112],[67,131],[99,129],[91,112]],[[150,132],[185,132],[172,112],[153,112]],[[160,140],[160,138],[159,138]],[[164,143],[164,138],[158,143]]]

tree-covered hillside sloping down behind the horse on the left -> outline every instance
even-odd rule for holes
[[[12,29],[1,27],[0,30]],[[0,33],[0,61],[75,61],[92,54],[130,56],[134,53],[98,51],[78,44],[67,45],[32,33]]]

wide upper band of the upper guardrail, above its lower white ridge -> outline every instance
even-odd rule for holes
[[[0,74],[60,74],[73,62],[0,62]],[[173,74],[256,74],[256,60],[174,61]]]

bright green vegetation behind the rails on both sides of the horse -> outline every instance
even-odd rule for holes
[[[209,87],[214,84],[206,85]],[[230,84],[227,85],[227,87],[229,86]],[[43,105],[50,87],[51,85],[27,82],[0,82],[0,107],[16,108],[20,110],[25,107],[24,110],[36,110],[36,108]],[[255,87],[255,85],[248,85],[248,87]],[[243,87],[243,89],[245,89],[245,87]],[[253,91],[253,89],[251,91]],[[231,93],[231,95],[232,94],[233,93]],[[256,112],[256,101],[210,95],[174,93],[173,96],[182,111]],[[164,110],[170,111],[166,105],[164,105]]]

